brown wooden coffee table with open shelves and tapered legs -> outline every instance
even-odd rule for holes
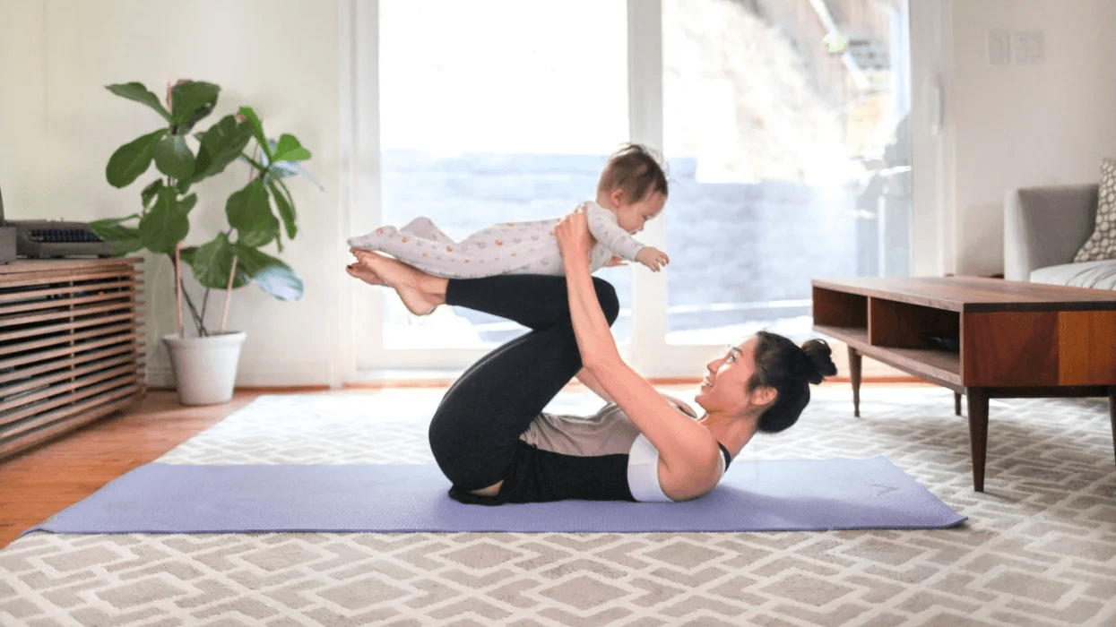
[[[969,399],[984,491],[988,399],[1107,396],[1116,450],[1116,291],[980,277],[815,279],[814,329],[848,345],[854,414],[867,356]]]

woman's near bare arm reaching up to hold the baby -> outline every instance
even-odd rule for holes
[[[575,212],[566,216],[556,235],[584,369],[658,450],[660,485],[667,496],[681,501],[709,492],[719,479],[716,442],[709,430],[680,414],[620,358],[593,288],[585,214]]]

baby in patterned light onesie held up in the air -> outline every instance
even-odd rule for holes
[[[600,173],[596,201],[579,205],[596,239],[590,269],[626,259],[657,272],[668,263],[666,253],[632,238],[662,212],[665,203],[666,174],[647,148],[628,144],[613,154]],[[560,276],[565,270],[554,234],[559,220],[493,224],[455,242],[429,218],[416,218],[402,229],[381,226],[350,238],[348,244],[357,250],[386,252],[427,274],[449,279]]]

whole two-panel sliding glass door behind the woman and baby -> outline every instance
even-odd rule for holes
[[[379,186],[355,211],[454,239],[560,215],[644,142],[671,195],[639,237],[671,264],[599,273],[633,365],[692,375],[760,328],[806,337],[811,277],[910,272],[906,16],[907,0],[378,0]],[[523,331],[357,298],[376,301],[358,370],[462,368]]]

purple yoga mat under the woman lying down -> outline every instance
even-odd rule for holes
[[[958,514],[884,456],[738,460],[683,503],[464,505],[427,465],[173,465],[116,479],[31,531],[820,531],[942,529]]]

